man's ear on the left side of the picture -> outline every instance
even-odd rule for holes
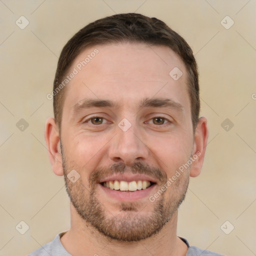
[[[48,118],[46,120],[44,138],[46,141],[52,170],[56,175],[62,176],[63,168],[60,150],[60,139],[54,118]]]

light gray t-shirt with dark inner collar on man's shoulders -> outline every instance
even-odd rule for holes
[[[71,256],[65,248],[63,247],[62,243],[60,242],[60,237],[65,232],[61,232],[55,236],[55,238],[39,249],[33,251],[32,253],[28,254],[27,256]],[[179,237],[188,247],[186,256],[223,256],[222,254],[212,252],[209,250],[202,250],[195,246],[190,246],[188,241],[185,238]]]

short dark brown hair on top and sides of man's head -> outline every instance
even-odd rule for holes
[[[80,29],[63,47],[53,83],[56,91],[74,58],[86,47],[110,42],[142,42],[170,47],[183,60],[188,73],[188,90],[193,130],[198,122],[200,99],[195,58],[187,42],[163,21],[138,13],[122,13],[98,19]],[[53,94],[55,122],[61,126],[64,88]]]

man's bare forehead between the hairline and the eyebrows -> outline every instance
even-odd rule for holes
[[[73,60],[67,74],[71,72],[75,75],[66,86],[64,100],[69,107],[83,98],[111,99],[121,104],[155,95],[169,95],[176,101],[188,99],[185,65],[167,46],[95,45]],[[179,79],[174,79],[177,76]]]

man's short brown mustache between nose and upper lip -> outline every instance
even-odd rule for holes
[[[146,163],[135,162],[129,167],[122,162],[114,163],[109,167],[100,167],[89,175],[89,186],[93,187],[99,182],[100,177],[112,175],[116,173],[124,173],[125,171],[131,171],[133,174],[146,174],[157,179],[160,183],[167,181],[166,173],[158,167],[150,167]]]

